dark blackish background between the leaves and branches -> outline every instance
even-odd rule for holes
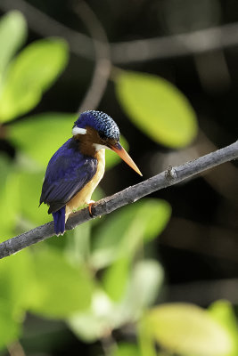
[[[0,0],[1,15],[7,6],[9,10],[17,8],[24,13],[23,3],[1,3]],[[76,1],[28,3],[68,28],[89,36],[85,24],[78,18]],[[95,0],[87,4],[100,20],[110,43],[173,36],[238,22],[238,2],[234,0]],[[31,14],[25,14],[31,23],[34,22]],[[55,35],[50,26],[42,26],[45,34]],[[29,21],[28,43],[42,37],[36,27]],[[105,111],[117,121],[144,179],[168,165],[178,165],[237,139],[237,33],[232,34],[233,38],[237,37],[237,44],[232,46],[183,56],[174,53],[165,58],[113,63],[121,69],[168,79],[185,94],[197,114],[201,131],[193,144],[185,150],[168,150],[152,142],[129,122],[115,97],[113,83],[108,82],[96,109]],[[32,113],[77,111],[93,70],[94,60],[70,53],[67,69]],[[1,142],[1,149],[13,155],[13,148],[7,142]],[[238,184],[234,167],[235,163],[233,166],[225,164],[202,177],[153,194],[168,200],[173,210],[171,221],[157,240],[154,252],[166,271],[166,287],[161,299],[201,306],[219,298],[238,303]],[[110,195],[136,182],[140,182],[140,178],[120,164],[105,175],[102,187]],[[74,354],[70,352],[74,343],[78,341],[69,336],[67,354]],[[65,351],[58,350],[55,354],[65,354]],[[79,350],[75,354],[80,354]]]

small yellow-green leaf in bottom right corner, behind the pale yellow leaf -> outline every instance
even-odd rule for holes
[[[230,302],[226,300],[219,300],[209,306],[209,314],[211,317],[219,322],[233,341],[233,350],[227,353],[226,356],[237,356],[238,354],[238,326],[235,318],[234,309]]]

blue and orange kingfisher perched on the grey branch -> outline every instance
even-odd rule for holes
[[[45,171],[39,206],[49,206],[55,235],[64,234],[69,215],[78,207],[88,205],[93,217],[91,196],[103,178],[105,149],[116,152],[142,175],[119,138],[119,127],[109,115],[87,110],[75,121],[72,137],[53,154]]]

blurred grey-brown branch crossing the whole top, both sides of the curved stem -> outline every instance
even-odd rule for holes
[[[1,0],[0,9],[20,10],[29,27],[42,36],[62,36],[76,55],[94,60],[94,45],[90,37],[68,28],[24,0]],[[80,45],[79,45],[80,44]],[[191,53],[205,53],[238,44],[238,23],[205,28],[191,33],[160,36],[111,44],[114,64],[172,58]]]

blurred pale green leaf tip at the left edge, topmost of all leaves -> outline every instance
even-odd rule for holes
[[[27,23],[21,12],[6,13],[0,20],[0,84],[4,69],[12,56],[24,43],[27,36]]]

